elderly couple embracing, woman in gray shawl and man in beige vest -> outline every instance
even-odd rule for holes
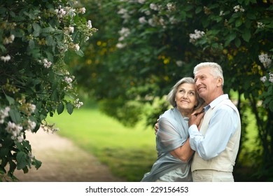
[[[223,92],[223,71],[214,62],[195,66],[167,100],[173,109],[155,124],[158,158],[141,181],[233,182],[241,120]]]

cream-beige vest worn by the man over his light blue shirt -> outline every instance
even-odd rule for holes
[[[215,111],[217,111],[218,107],[221,105],[226,104],[232,109],[234,109],[237,112],[238,118],[239,118],[239,126],[237,127],[237,130],[235,131],[235,134],[230,138],[230,141],[228,141],[228,145],[225,148],[225,151],[220,153],[217,157],[212,158],[210,160],[203,160],[200,155],[198,155],[197,152],[195,152],[195,155],[193,156],[193,162],[191,165],[192,172],[197,169],[214,169],[217,171],[222,172],[232,172],[233,167],[235,166],[235,159],[237,157],[237,153],[239,150],[239,141],[241,137],[241,120],[239,116],[239,112],[234,104],[230,101],[230,99],[225,99],[221,103],[219,103],[217,106],[214,107],[214,109],[209,109],[203,119],[202,126],[200,129],[200,132],[205,135],[207,132],[207,129],[209,127],[209,121],[211,119],[211,116]],[[221,130],[218,130],[221,132]]]

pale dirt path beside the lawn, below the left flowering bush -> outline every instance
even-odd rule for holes
[[[27,174],[16,171],[21,182],[119,182],[106,165],[75,146],[69,139],[38,130],[27,134],[32,153],[42,166]]]

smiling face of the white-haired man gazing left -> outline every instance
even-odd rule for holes
[[[209,104],[216,97],[218,79],[211,74],[210,67],[201,68],[195,73],[195,86],[200,97]]]

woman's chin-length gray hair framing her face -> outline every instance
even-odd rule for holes
[[[193,78],[190,77],[185,77],[182,78],[181,80],[179,80],[171,89],[171,91],[169,92],[169,94],[167,95],[167,101],[175,108],[176,107],[176,101],[175,101],[175,97],[176,97],[176,92],[179,89],[179,86],[182,85],[183,83],[187,83],[187,84],[193,84],[195,85],[195,80]],[[195,106],[195,109],[200,108],[200,106],[204,103],[204,100],[202,98],[199,97],[197,91],[195,90],[195,94],[197,97],[197,106]]]

